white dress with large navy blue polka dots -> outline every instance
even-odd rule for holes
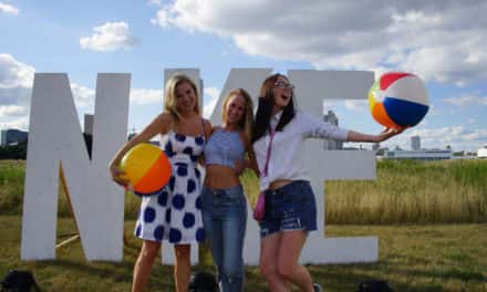
[[[205,240],[201,220],[201,181],[196,163],[205,146],[204,136],[174,132],[162,146],[173,167],[169,184],[157,195],[143,197],[135,236],[152,241],[187,244]]]

